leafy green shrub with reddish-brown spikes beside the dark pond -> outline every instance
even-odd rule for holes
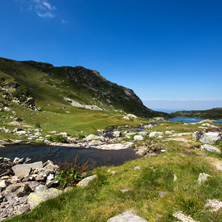
[[[78,167],[78,155],[75,158],[74,164],[68,164],[66,161],[64,167],[58,162],[56,164],[59,166],[59,169],[55,180],[59,182],[63,189],[67,186],[75,186],[82,179],[82,173],[88,169],[88,161],[82,167]]]

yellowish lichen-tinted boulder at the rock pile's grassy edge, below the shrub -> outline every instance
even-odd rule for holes
[[[34,209],[38,204],[51,198],[55,198],[62,193],[61,190],[50,188],[48,190],[37,191],[29,194],[28,203],[31,209]]]

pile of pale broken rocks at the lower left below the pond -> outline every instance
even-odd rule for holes
[[[24,158],[15,158],[11,162],[8,158],[0,157],[0,221],[28,212],[38,203],[62,192],[51,188],[57,186],[53,180],[57,165],[51,161],[44,164],[41,161],[30,164],[23,162]]]

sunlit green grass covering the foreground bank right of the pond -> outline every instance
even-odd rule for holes
[[[174,221],[172,215],[176,211],[197,221],[222,221],[222,211],[211,213],[204,207],[207,199],[222,200],[222,173],[199,155],[199,150],[190,148],[189,155],[181,155],[184,147],[177,144],[175,150],[175,143],[165,146],[168,152],[157,157],[97,168],[90,174],[97,174],[98,179],[86,189],[74,188],[42,203],[31,213],[8,221],[107,221],[128,209],[134,209],[147,221]],[[135,166],[141,169],[135,170]],[[198,185],[202,172],[211,177]],[[131,190],[122,193],[120,189]],[[162,198],[160,192],[164,192]]]

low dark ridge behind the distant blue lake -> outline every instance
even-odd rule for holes
[[[177,111],[171,113],[173,117],[194,117],[201,119],[222,119],[222,108],[209,110]]]

